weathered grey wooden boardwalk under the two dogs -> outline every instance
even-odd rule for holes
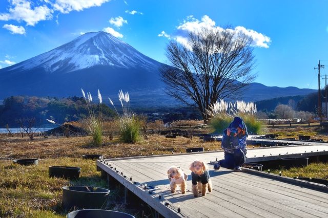
[[[304,157],[328,155],[328,145],[249,149],[247,156],[248,162],[252,162],[300,154]],[[328,187],[311,187],[300,180],[247,169],[214,171],[209,165],[213,191],[194,198],[190,191],[190,163],[196,159],[210,163],[216,158],[223,158],[223,152],[98,160],[97,167],[165,217],[328,217]],[[171,165],[180,166],[189,175],[186,194],[170,193],[166,172]],[[156,186],[156,190],[149,193],[144,189],[145,184]]]

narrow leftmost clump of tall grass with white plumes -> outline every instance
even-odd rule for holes
[[[101,94],[98,90],[99,114],[96,115],[94,113],[94,105],[92,104],[91,93],[87,93],[88,97],[86,97],[86,94],[83,89],[81,89],[81,91],[84,99],[86,100],[89,112],[89,118],[87,118],[87,126],[92,135],[93,144],[99,147],[103,144],[103,121],[101,117],[101,103],[103,103],[103,99],[101,98]]]

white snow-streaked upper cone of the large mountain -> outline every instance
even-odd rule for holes
[[[72,72],[96,65],[154,69],[158,62],[141,54],[126,42],[99,31],[81,35],[49,52],[15,64],[11,70],[44,68],[48,72]]]

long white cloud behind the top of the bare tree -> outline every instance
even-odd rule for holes
[[[223,29],[222,27],[216,26],[215,21],[212,20],[209,16],[204,15],[201,20],[194,18],[192,15],[188,16],[186,20],[183,20],[183,23],[177,27],[177,35],[174,37],[176,41],[186,46],[188,43],[185,36],[188,33],[197,33],[202,29],[213,29],[215,31],[234,31],[237,34],[243,33],[252,38],[252,46],[269,48],[271,39],[268,36],[258,33],[252,29],[246,29],[244,27],[238,26],[234,29]]]

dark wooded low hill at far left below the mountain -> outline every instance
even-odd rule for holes
[[[94,105],[95,113],[99,113],[99,106]],[[101,105],[104,117],[113,117],[114,112],[105,104]],[[35,118],[35,125],[45,124],[46,119],[57,123],[77,121],[88,116],[85,99],[81,97],[43,98],[35,96],[11,96],[0,105],[0,126],[8,124],[10,127],[20,127],[17,119]],[[23,130],[24,131],[24,130]],[[24,131],[25,132],[25,131]]]

